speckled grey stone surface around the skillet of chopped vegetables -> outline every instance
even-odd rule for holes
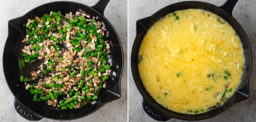
[[[2,51],[8,36],[8,20],[24,15],[29,10],[56,0],[1,0],[0,2],[0,122],[29,122],[22,118],[13,106],[10,92],[2,70]],[[71,1],[71,0],[70,0]],[[93,6],[98,0],[72,0]],[[122,97],[105,104],[89,116],[65,122],[127,122],[127,0],[110,0],[104,15],[116,29],[124,50],[124,72],[121,80]],[[61,122],[43,118],[38,122]]]

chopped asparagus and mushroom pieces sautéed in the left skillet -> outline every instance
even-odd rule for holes
[[[28,19],[18,66],[26,70],[26,64],[43,61],[31,76],[20,76],[34,102],[46,101],[61,110],[96,103],[111,73],[111,42],[104,39],[104,23],[96,19],[82,10]],[[38,83],[30,84],[34,80]]]

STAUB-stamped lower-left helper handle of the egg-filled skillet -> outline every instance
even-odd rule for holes
[[[165,122],[167,120],[170,120],[171,118],[168,116],[163,115],[162,113],[158,112],[155,108],[153,108],[146,100],[142,100],[142,108],[143,110],[153,118],[154,120],[157,120],[159,122]]]

